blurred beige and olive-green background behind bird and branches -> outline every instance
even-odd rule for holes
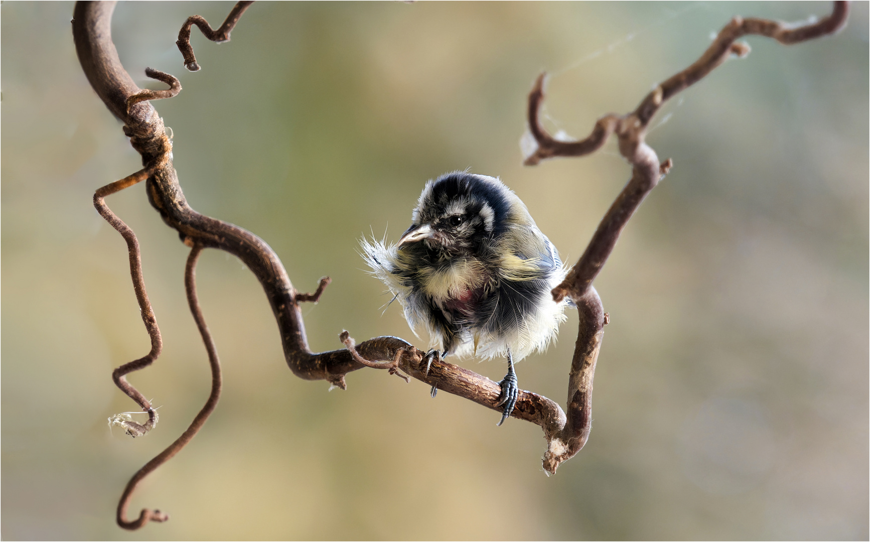
[[[395,240],[425,181],[499,176],[574,261],[630,171],[615,144],[521,165],[525,98],[552,74],[545,122],[585,136],[699,57],[734,15],[823,17],[828,3],[255,3],[231,43],[184,18],[231,3],[121,3],[117,49],[184,90],[155,102],[197,211],[255,232],[302,291],[315,350],[412,337],[366,275],[364,235]],[[208,395],[184,300],[188,249],[144,185],[110,207],[137,232],[164,354],[149,348],[124,241],[93,191],[140,167],[90,90],[72,3],[3,3],[3,539],[867,539],[867,3],[839,36],[749,37],[666,105],[648,141],[674,168],[595,285],[610,312],[586,448],[545,477],[539,427],[385,371],[347,391],[295,378],[238,259],[206,251],[199,295],[224,365],[204,430],[131,503],[171,521],[124,532],[117,498]],[[383,314],[382,314],[383,313]],[[564,404],[577,314],[519,383]],[[464,365],[499,379],[500,361]]]

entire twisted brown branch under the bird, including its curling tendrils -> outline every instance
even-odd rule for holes
[[[230,16],[218,30],[211,30],[211,27],[202,17],[188,18],[179,32],[177,44],[184,55],[184,62],[189,70],[198,69],[196,58],[193,57],[193,51],[190,47],[191,25],[196,24],[209,39],[218,42],[227,41],[230,37],[230,31],[248,5],[250,2],[236,4]],[[137,520],[127,521],[125,519],[126,508],[131,494],[139,481],[175,455],[193,438],[217,405],[220,392],[218,358],[211,337],[204,325],[202,313],[199,311],[193,282],[193,270],[199,251],[206,247],[218,248],[237,256],[258,278],[278,324],[278,331],[284,347],[284,358],[291,371],[298,377],[309,380],[325,379],[331,384],[345,389],[345,375],[364,366],[388,369],[393,374],[398,374],[398,370],[401,370],[406,375],[417,378],[426,384],[437,385],[439,390],[454,393],[479,405],[501,412],[502,408],[497,405],[500,395],[498,383],[443,361],[433,362],[427,371],[426,364],[423,362],[424,352],[419,351],[401,338],[378,337],[355,345],[350,335],[345,332],[342,334],[342,341],[345,343],[344,349],[319,353],[311,351],[305,337],[305,325],[302,321],[299,303],[318,301],[326,284],[329,283],[329,279],[321,279],[318,290],[314,294],[296,291],[284,270],[284,265],[262,239],[234,224],[197,213],[187,204],[181,186],[178,184],[176,171],[172,166],[171,141],[166,136],[163,120],[149,102],[151,99],[174,96],[181,90],[180,84],[175,77],[157,70],[146,71],[146,74],[170,84],[170,90],[142,90],[133,83],[120,63],[117,50],[111,41],[110,20],[114,6],[113,2],[79,2],[76,4],[72,23],[77,54],[85,75],[104,104],[124,122],[124,133],[131,138],[133,148],[141,154],[144,165],[143,170],[117,183],[107,185],[97,191],[97,195],[95,195],[97,210],[110,221],[113,227],[121,232],[130,247],[134,290],[136,290],[140,307],[143,307],[146,329],[152,338],[152,349],[149,355],[120,367],[116,373],[122,370],[125,372],[118,374],[116,384],[144,409],[147,405],[150,414],[153,412],[150,403],[126,383],[124,374],[150,364],[157,357],[160,351],[159,331],[156,321],[153,319],[151,306],[147,304],[147,296],[144,293],[144,282],[141,279],[141,266],[138,263],[135,236],[120,219],[108,210],[108,207],[105,207],[102,200],[105,195],[141,182],[145,178],[147,178],[147,193],[152,206],[164,218],[166,224],[180,233],[184,244],[193,247],[185,272],[185,284],[187,284],[191,312],[197,320],[197,326],[209,352],[212,369],[211,396],[203,410],[199,412],[191,427],[180,438],[156,458],[151,459],[131,478],[118,504],[118,524],[124,528],[137,529],[149,520],[164,521],[168,519],[168,516],[162,512],[143,510]],[[845,4],[837,3],[831,17],[827,17],[820,23],[791,30],[786,29],[780,23],[761,19],[742,20],[735,18],[720,32],[719,38],[711,49],[697,63],[659,85],[632,114],[625,117],[609,115],[599,119],[590,137],[583,141],[556,141],[540,126],[538,109],[544,97],[544,76],[539,77],[529,97],[528,114],[529,127],[532,136],[538,143],[538,149],[526,160],[526,164],[537,164],[539,160],[547,157],[587,154],[598,149],[607,137],[616,133],[619,137],[619,150],[633,168],[632,179],[614,202],[610,211],[607,212],[586,252],[578,264],[573,267],[565,282],[553,290],[553,297],[557,300],[570,296],[578,305],[580,313],[578,340],[569,373],[568,414],[566,416],[566,413],[552,400],[530,391],[519,392],[519,399],[512,414],[514,418],[531,421],[543,428],[548,442],[544,456],[544,468],[548,474],[556,472],[562,461],[579,452],[579,449],[586,443],[589,434],[592,376],[603,337],[603,326],[608,320],[598,294],[592,288],[592,280],[605,263],[617,238],[619,238],[619,232],[625,227],[632,213],[646,197],[646,194],[658,183],[659,178],[666,174],[671,165],[670,160],[665,164],[659,164],[655,152],[644,143],[646,124],[667,98],[704,77],[710,70],[721,64],[728,55],[745,55],[748,52],[748,47],[733,43],[736,37],[757,33],[776,37],[783,43],[796,43],[839,30],[845,23],[846,15]],[[134,247],[136,252],[135,264]],[[144,308],[145,305],[148,308],[147,312]],[[156,421],[155,412],[153,422],[156,423]],[[151,423],[151,418],[149,423]]]

